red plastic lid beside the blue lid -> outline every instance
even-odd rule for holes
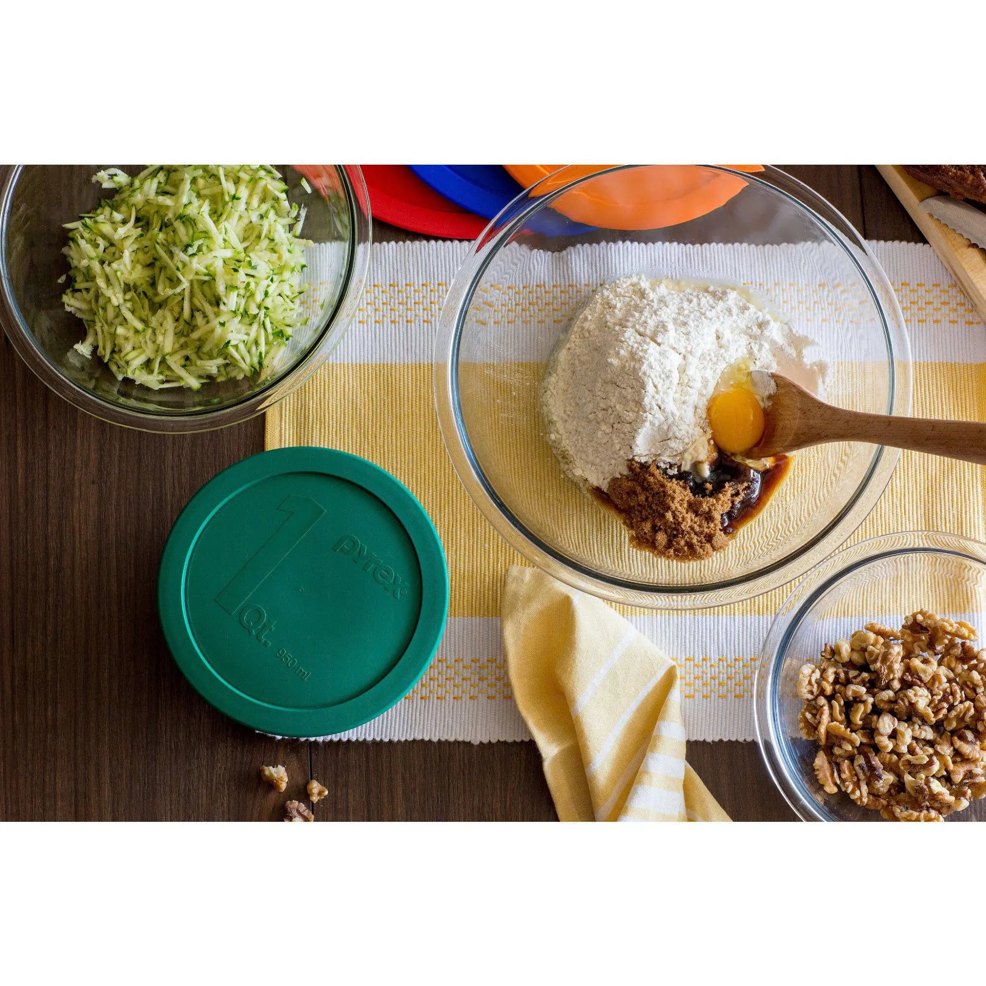
[[[405,165],[361,165],[374,219],[412,233],[474,240],[486,220],[429,188]]]

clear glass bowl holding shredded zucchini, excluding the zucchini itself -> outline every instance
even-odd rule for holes
[[[267,376],[205,384],[198,390],[154,390],[117,381],[98,357],[72,347],[85,337],[82,321],[62,305],[58,279],[68,270],[63,223],[94,209],[111,189],[92,177],[105,165],[32,166],[0,175],[0,321],[35,374],[76,407],[115,424],[146,431],[219,428],[265,410],[306,381],[339,344],[352,322],[370,261],[370,205],[352,165],[278,166],[288,198],[308,208],[308,322]],[[301,169],[301,170],[299,170]],[[139,168],[124,168],[136,174]],[[311,193],[302,186],[307,176]],[[261,379],[262,377],[262,379]]]

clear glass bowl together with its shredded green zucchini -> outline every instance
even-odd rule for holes
[[[353,166],[8,169],[0,318],[35,373],[90,413],[220,427],[338,344],[369,246]]]

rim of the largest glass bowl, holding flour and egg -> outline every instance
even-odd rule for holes
[[[494,528],[529,562],[548,572],[562,582],[601,599],[652,609],[698,609],[727,605],[752,599],[770,592],[778,586],[800,578],[814,565],[844,543],[867,518],[877,505],[880,495],[893,474],[899,451],[878,447],[870,463],[867,475],[850,501],[839,514],[793,555],[749,575],[708,586],[681,587],[648,586],[609,578],[573,563],[538,538],[513,516],[509,508],[496,495],[476,460],[468,436],[458,400],[458,346],[465,317],[475,290],[493,255],[505,245],[531,216],[546,208],[555,199],[599,175],[627,171],[647,165],[618,165],[603,172],[586,176],[578,174],[573,166],[566,166],[551,176],[546,176],[521,192],[502,212],[492,219],[483,233],[475,240],[460,264],[449,289],[435,347],[435,402],[439,424],[446,448],[452,458],[459,481],[472,501]],[[843,247],[848,259],[858,268],[870,297],[880,314],[884,342],[887,350],[889,397],[887,413],[909,414],[911,405],[911,354],[906,325],[896,295],[866,240],[853,225],[830,203],[808,185],[785,172],[764,166],[761,173],[737,172],[719,165],[702,165],[741,177],[751,183],[766,185],[780,193],[811,221],[820,226],[832,240]],[[558,184],[559,176],[573,171],[571,181]],[[767,180],[767,179],[770,180]],[[538,195],[541,186],[556,185],[553,190]],[[827,211],[844,225],[847,234],[840,232],[819,210]],[[868,272],[849,246],[858,249],[872,265]],[[880,282],[877,290],[875,280]],[[882,299],[881,296],[882,295]],[[889,309],[889,311],[887,311]]]

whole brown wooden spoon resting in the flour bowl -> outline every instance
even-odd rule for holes
[[[753,372],[766,376],[762,370]],[[846,411],[819,400],[787,377],[769,376],[777,391],[764,412],[760,441],[744,454],[748,458],[769,458],[825,442],[870,442],[986,464],[986,424]],[[765,382],[761,378],[758,383]]]

